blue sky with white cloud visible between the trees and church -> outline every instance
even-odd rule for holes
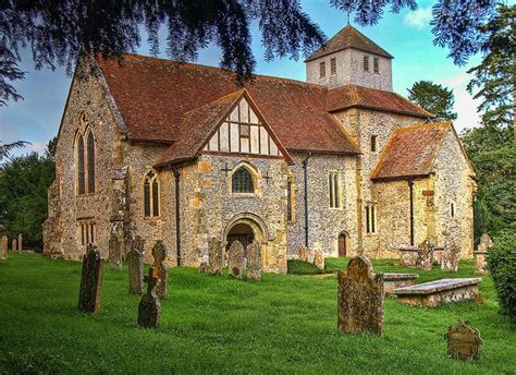
[[[404,10],[400,14],[385,13],[376,26],[360,27],[354,24],[353,20],[352,24],[394,56],[395,92],[406,97],[407,88],[421,80],[453,88],[454,109],[458,112],[455,126],[462,131],[477,125],[479,121],[476,113],[479,102],[466,92],[466,85],[470,80],[466,71],[480,61],[480,56],[472,57],[466,66],[457,66],[447,58],[447,50],[433,46],[429,22],[431,5],[434,2],[418,1],[419,9],[415,12]],[[514,1],[509,1],[512,2]],[[328,37],[337,33],[347,23],[347,15],[331,8],[329,0],[305,0],[302,1],[302,5]],[[164,50],[164,45],[162,49]],[[257,60],[256,73],[305,81],[305,64],[302,58],[298,61],[288,58],[265,61],[260,34],[256,25],[253,27],[253,51]],[[138,53],[149,55],[145,43],[138,49]],[[165,56],[162,53],[161,57]],[[219,61],[220,51],[214,46],[201,50],[197,60],[199,63],[213,66],[219,65]],[[16,83],[15,86],[25,100],[11,101],[9,107],[0,108],[0,141],[7,143],[16,140],[29,141],[33,145],[23,152],[42,150],[48,141],[57,135],[71,77],[66,76],[64,69],[35,71],[28,51],[23,51],[21,68],[27,75],[25,81]]]

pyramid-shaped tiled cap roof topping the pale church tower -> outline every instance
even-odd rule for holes
[[[361,34],[352,25],[347,25],[328,40],[321,48],[309,56],[305,62],[311,61],[323,56],[342,51],[347,48],[355,48],[378,56],[392,59],[393,56],[378,46],[374,41]]]

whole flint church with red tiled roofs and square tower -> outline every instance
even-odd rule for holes
[[[49,189],[45,253],[90,242],[120,257],[208,262],[208,242],[261,245],[286,273],[327,257],[398,257],[430,239],[472,256],[474,170],[453,124],[393,92],[393,57],[346,26],[306,61],[307,82],[124,55],[84,58]]]

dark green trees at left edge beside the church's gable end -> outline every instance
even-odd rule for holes
[[[9,238],[23,234],[24,246],[42,247],[47,190],[54,179],[49,153],[14,157],[0,167],[0,227]]]

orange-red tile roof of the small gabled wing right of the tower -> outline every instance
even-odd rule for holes
[[[397,129],[371,173],[371,180],[428,176],[451,122]]]

